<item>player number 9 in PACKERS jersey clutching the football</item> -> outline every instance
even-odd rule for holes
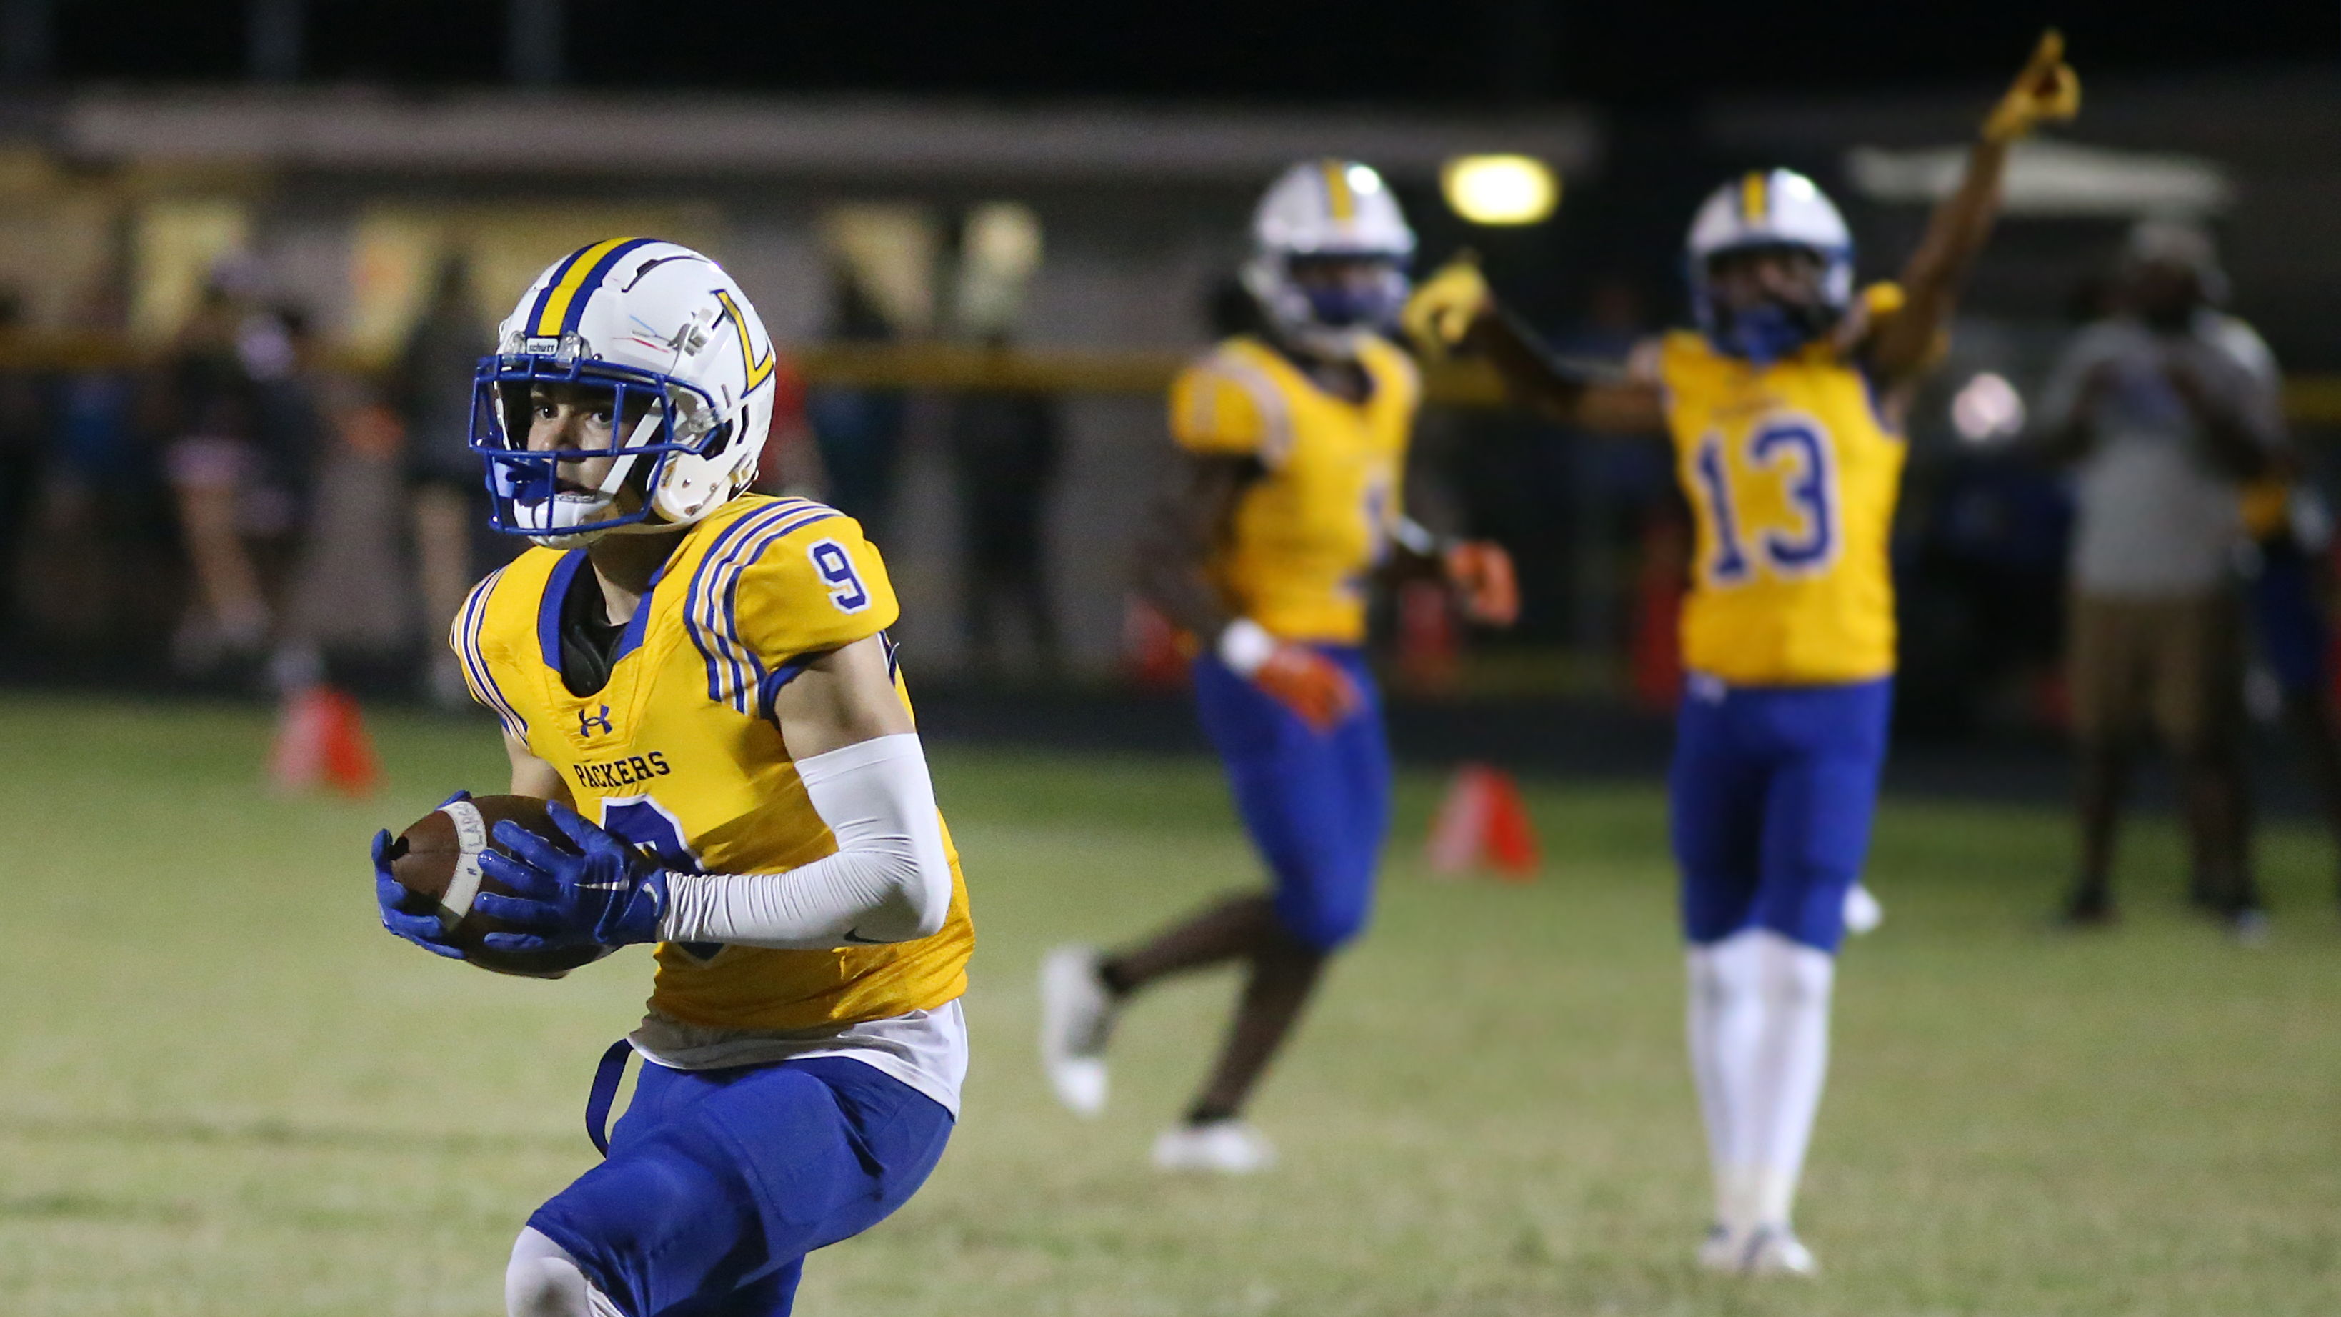
[[[805,1254],[899,1207],[957,1118],[974,928],[899,607],[850,518],[742,494],[770,408],[747,295],[667,241],[555,262],[480,363],[494,525],[536,546],[452,644],[569,846],[499,825],[515,855],[482,869],[513,895],[475,905],[499,949],[658,944],[588,1104],[606,1160],[520,1233],[515,1317],[789,1312]],[[452,954],[386,844],[384,923]]]

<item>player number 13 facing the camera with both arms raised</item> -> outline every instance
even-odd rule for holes
[[[2079,108],[2048,33],[1999,101],[1899,284],[1854,291],[1852,237],[1786,169],[1718,187],[1690,225],[1697,330],[1627,380],[1552,361],[1470,265],[1407,309],[1585,429],[1664,434],[1697,520],[1683,600],[1671,834],[1690,942],[1690,1069],[1716,1172],[1700,1261],[1814,1270],[1791,1228],[1828,1069],[1828,998],[1868,853],[1894,691],[1887,534],[1901,427],[1999,209],[2009,145]]]

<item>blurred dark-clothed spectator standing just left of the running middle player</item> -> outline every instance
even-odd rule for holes
[[[995,337],[993,349],[1007,349]],[[1046,513],[1056,485],[1060,422],[1044,394],[962,394],[950,408],[950,466],[960,492],[960,560],[967,565],[967,649],[993,675],[1002,626],[1018,616],[1042,673],[1056,668],[1049,600]]]

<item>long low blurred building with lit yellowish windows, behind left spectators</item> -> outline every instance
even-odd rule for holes
[[[21,281],[37,326],[66,330],[80,291],[129,267],[131,330],[162,342],[206,274],[239,260],[267,295],[314,307],[356,361],[386,366],[447,258],[468,262],[494,323],[562,253],[651,232],[723,260],[784,347],[833,330],[843,267],[892,340],[957,333],[939,307],[972,302],[1035,352],[1175,354],[1206,342],[1199,293],[1243,258],[1255,192],[1290,159],[1372,159],[1435,232],[1444,159],[1517,150],[1590,171],[1597,141],[1575,112],[87,89],[0,115],[0,279]],[[906,239],[993,202],[1046,232],[1007,312],[983,281],[946,286],[960,265]],[[1121,644],[1121,546],[1168,452],[1161,401],[1070,396],[1058,424],[1046,579],[1067,663],[1105,673]],[[955,661],[962,633],[946,429],[941,408],[911,408],[887,541],[904,633],[929,666]]]

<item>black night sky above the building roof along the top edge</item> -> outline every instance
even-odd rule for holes
[[[63,0],[61,80],[246,75],[243,0]],[[307,80],[466,84],[503,75],[506,7],[316,0]],[[1999,80],[2044,26],[2091,73],[2304,66],[2341,56],[2329,5],[1557,5],[1538,0],[1126,0],[845,5],[571,0],[588,87],[943,91],[1238,101],[1648,105],[1714,91]],[[449,40],[447,33],[475,33]]]

